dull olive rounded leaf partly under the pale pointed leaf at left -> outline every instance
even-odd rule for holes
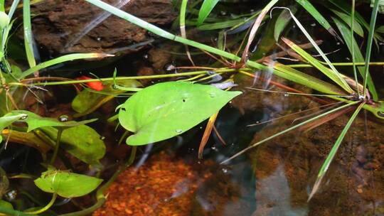
[[[58,130],[53,127],[43,127],[41,130],[50,139],[56,140]],[[100,158],[105,155],[105,144],[100,134],[87,125],[79,125],[65,129],[61,134],[60,147],[81,161],[92,166],[100,165]]]

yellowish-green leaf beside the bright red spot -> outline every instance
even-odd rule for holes
[[[105,83],[102,92],[92,92],[90,90],[83,90],[72,101],[72,108],[78,112],[75,117],[80,117],[94,112],[97,108],[113,99],[116,95],[126,92],[124,90],[114,89],[113,83]],[[117,85],[124,87],[140,87],[142,84],[137,80],[118,80]]]

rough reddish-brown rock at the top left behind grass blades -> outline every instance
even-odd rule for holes
[[[171,0],[106,1],[156,26],[176,18]],[[86,1],[48,0],[32,6],[33,37],[50,54],[132,53],[153,39],[146,30]]]

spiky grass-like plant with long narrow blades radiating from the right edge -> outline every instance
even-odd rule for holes
[[[261,65],[260,63],[256,63],[255,61],[247,60],[247,57],[248,57],[247,53],[248,53],[248,49],[250,47],[250,43],[252,43],[252,41],[253,41],[253,38],[254,38],[255,33],[257,31],[257,28],[260,26],[262,18],[264,18],[267,11],[270,11],[270,9],[272,9],[272,7],[274,6],[274,4],[277,3],[277,1],[270,1],[270,4],[267,4],[267,6],[265,6],[265,8],[261,11],[260,15],[256,19],[256,21],[253,24],[252,29],[250,31],[249,40],[248,40],[247,45],[245,45],[245,50],[244,50],[244,53],[242,55],[242,58],[240,58],[236,55],[233,55],[231,53],[227,53],[224,50],[219,50],[217,48],[209,47],[207,45],[197,43],[195,41],[190,41],[186,38],[181,38],[179,36],[175,36],[169,32],[164,31],[161,28],[153,26],[150,23],[146,23],[145,21],[143,21],[137,17],[134,17],[134,16],[130,15],[129,13],[126,13],[124,11],[116,9],[113,6],[110,6],[109,4],[106,4],[102,1],[99,1],[99,0],[87,0],[87,1],[90,2],[91,4],[94,4],[95,6],[99,6],[101,9],[105,9],[106,11],[113,13],[115,16],[119,16],[120,18],[124,18],[131,23],[134,23],[138,26],[141,26],[142,28],[146,28],[146,30],[151,31],[152,33],[156,33],[157,35],[159,35],[161,37],[164,37],[164,38],[167,38],[167,39],[170,39],[172,41],[179,42],[179,43],[183,43],[185,45],[191,45],[191,46],[199,48],[201,50],[206,50],[207,52],[214,53],[216,55],[220,55],[224,58],[229,58],[230,60],[235,60],[236,62],[242,62],[242,65],[240,66],[240,68],[245,66],[245,67],[250,67],[250,68],[257,68],[259,70],[270,69],[265,65]],[[209,2],[209,1],[207,1],[207,2]],[[211,4],[210,5],[210,7],[211,7],[215,4],[215,2],[210,2],[210,4]],[[309,13],[311,13],[311,15],[314,16],[314,18],[316,18],[317,21],[319,21],[319,23],[326,26],[326,28],[327,28],[329,23],[326,21],[326,19],[323,16],[321,16],[321,14],[318,11],[316,11],[314,6],[311,6],[311,4],[308,1],[299,1],[299,4],[302,4],[302,6],[304,6],[304,8],[307,11],[309,11]],[[325,95],[317,95],[317,96],[325,96],[325,97],[329,97],[331,99],[340,100],[340,101],[344,102],[345,104],[342,105],[341,107],[331,109],[328,112],[325,112],[323,114],[319,114],[316,117],[312,117],[311,119],[303,121],[302,123],[299,123],[295,126],[292,126],[289,129],[285,129],[284,131],[281,131],[277,134],[274,134],[274,136],[270,136],[269,138],[264,139],[262,141],[259,141],[256,144],[252,144],[248,148],[245,148],[244,150],[237,153],[235,156],[228,158],[228,160],[224,161],[223,163],[225,163],[225,162],[229,161],[230,159],[240,155],[241,153],[244,153],[245,151],[249,150],[250,148],[254,148],[255,146],[260,145],[260,144],[264,143],[265,141],[273,139],[275,136],[285,134],[287,131],[291,131],[292,129],[296,129],[299,126],[307,124],[311,121],[315,121],[316,119],[320,119],[321,117],[326,117],[327,115],[334,113],[334,112],[337,112],[338,110],[341,110],[341,109],[344,109],[347,107],[351,107],[351,106],[357,106],[355,112],[353,112],[353,115],[351,116],[351,119],[349,119],[349,121],[347,122],[343,131],[341,131],[340,136],[338,136],[338,139],[336,140],[334,147],[331,149],[329,156],[327,156],[326,161],[324,161],[323,166],[321,167],[321,169],[319,171],[319,175],[316,179],[314,187],[311,191],[311,194],[309,195],[309,199],[311,198],[312,195],[314,195],[314,193],[316,193],[316,191],[318,190],[319,185],[321,183],[321,179],[324,177],[324,174],[328,170],[329,165],[330,165],[331,161],[333,160],[338,147],[341,144],[341,141],[343,140],[344,136],[346,135],[346,132],[350,128],[353,120],[357,117],[357,115],[361,111],[361,109],[368,110],[369,112],[373,113],[375,115],[375,117],[378,117],[378,119],[384,119],[384,115],[383,115],[384,104],[383,104],[383,102],[380,102],[377,100],[378,97],[375,93],[376,92],[375,87],[373,85],[372,80],[370,80],[370,78],[369,78],[370,77],[369,76],[370,53],[371,53],[371,49],[372,49],[373,36],[375,33],[375,23],[376,23],[376,17],[377,17],[377,13],[378,13],[378,6],[379,6],[379,1],[375,1],[375,4],[373,5],[373,12],[372,12],[372,16],[371,16],[371,20],[370,20],[370,26],[369,26],[368,44],[367,44],[367,50],[366,50],[366,62],[364,65],[365,70],[361,71],[361,75],[363,77],[363,85],[361,85],[357,82],[358,77],[356,75],[356,72],[354,73],[354,75],[355,75],[354,82],[351,82],[351,80],[353,81],[353,79],[348,78],[345,75],[342,75],[340,72],[338,72],[338,70],[334,67],[334,65],[331,63],[331,61],[326,57],[324,52],[319,48],[319,46],[316,44],[316,42],[311,38],[309,33],[305,30],[304,26],[302,26],[302,24],[294,16],[294,14],[292,12],[290,12],[290,15],[294,19],[295,23],[297,23],[297,26],[299,26],[300,30],[304,33],[306,38],[311,42],[311,45],[313,45],[314,48],[316,48],[316,50],[321,55],[321,58],[323,58],[325,60],[326,64],[324,65],[324,63],[319,62],[319,60],[316,60],[311,55],[306,53],[304,50],[299,48],[298,45],[295,45],[292,41],[289,41],[286,38],[283,38],[284,43],[289,45],[289,47],[292,48],[292,50],[296,51],[300,56],[302,56],[302,58],[304,58],[307,62],[309,62],[311,65],[313,65],[314,68],[317,68],[319,71],[323,72],[324,75],[326,75],[332,81],[334,81],[334,83],[337,85],[337,87],[330,84],[330,83],[321,81],[321,80],[319,80],[316,77],[313,77],[311,75],[306,75],[302,72],[299,72],[298,70],[295,70],[292,67],[289,67],[287,65],[281,65],[279,63],[274,65],[274,70],[273,70],[274,75],[283,77],[283,78],[285,78],[287,80],[291,80],[293,82],[297,82],[301,85],[304,85],[306,87],[310,87],[314,90],[317,90],[317,91],[325,94]],[[208,6],[206,6],[206,4],[203,4],[203,10],[205,10],[206,7],[208,7]],[[354,4],[352,7],[352,11],[353,11],[352,12],[352,15],[353,15],[354,14]],[[203,19],[203,17],[206,17],[206,16],[205,15],[201,16],[200,17],[201,20]],[[201,20],[198,22],[199,24],[201,24]],[[352,20],[351,33],[353,34],[353,32],[354,32],[353,31],[354,16],[351,16],[351,20]],[[327,28],[327,29],[330,30],[330,28]],[[332,30],[331,33],[334,34],[334,31]],[[351,38],[353,38],[353,36],[351,36]],[[351,43],[353,43],[353,42],[352,41],[346,41],[346,43],[350,43],[350,46],[351,46]],[[355,56],[356,51],[357,50],[355,50],[355,49],[352,50],[353,59],[356,58],[356,56]],[[353,62],[353,64],[356,64],[356,63]],[[370,83],[370,84],[368,85],[368,83]],[[367,87],[367,85],[368,85],[368,87]],[[371,94],[373,95],[372,97],[370,97],[371,94],[368,93],[368,88],[369,88],[369,91],[371,92]],[[314,96],[316,96],[316,95],[314,95]]]

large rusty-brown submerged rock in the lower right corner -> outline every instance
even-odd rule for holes
[[[256,175],[255,215],[380,215],[384,201],[383,124],[356,118],[309,202],[322,163],[350,114],[311,131],[295,130],[250,152]],[[292,126],[268,126],[252,143]]]

